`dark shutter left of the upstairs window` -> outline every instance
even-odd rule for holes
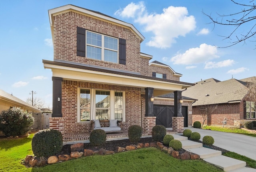
[[[85,32],[86,29],[76,28],[76,55],[85,57]]]

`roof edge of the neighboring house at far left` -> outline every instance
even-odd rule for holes
[[[22,101],[21,99],[9,94],[9,93],[6,93],[4,90],[0,89],[0,99],[3,99],[5,101],[8,101],[8,102],[11,102],[11,103],[14,103],[16,104],[16,106],[22,106],[22,107],[27,107],[33,111],[36,111],[36,112],[41,112],[40,109],[37,109],[36,107]]]

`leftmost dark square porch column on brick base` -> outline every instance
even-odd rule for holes
[[[62,78],[52,77],[52,117],[62,117],[61,93],[62,93]]]

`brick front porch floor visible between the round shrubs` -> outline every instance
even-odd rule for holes
[[[170,128],[166,129],[166,134],[177,134],[178,132],[173,131]],[[148,133],[142,133],[142,138],[151,137]],[[63,136],[63,145],[66,144],[76,144],[76,143],[88,143],[90,138],[89,132],[80,132],[80,133],[66,133]],[[124,140],[128,139],[128,131],[119,132],[119,133],[107,133],[107,140]]]

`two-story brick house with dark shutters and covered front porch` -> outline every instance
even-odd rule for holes
[[[174,105],[174,129],[183,130],[177,129],[182,105],[191,109],[193,100],[179,99],[194,84],[181,82],[182,75],[167,65],[149,63],[152,56],[140,52],[144,37],[132,24],[73,5],[49,10],[49,18],[54,60],[43,63],[52,70],[50,128],[89,132],[90,120],[104,118],[122,120],[123,130],[140,125],[150,134],[156,125],[150,97],[173,93],[164,101]]]

